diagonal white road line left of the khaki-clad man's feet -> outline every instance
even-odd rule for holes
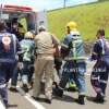
[[[40,105],[38,101],[34,100],[29,94],[25,94],[24,90],[20,87],[16,86],[17,90],[20,92],[20,94],[27,99],[36,109],[46,109],[43,105]],[[0,108],[1,109],[1,108]]]

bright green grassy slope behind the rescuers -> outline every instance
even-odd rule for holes
[[[102,0],[100,0],[102,1]],[[65,34],[65,24],[75,21],[86,41],[95,39],[98,28],[105,28],[109,38],[109,0],[48,12],[49,31],[60,39]]]

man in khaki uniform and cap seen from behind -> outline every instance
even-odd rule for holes
[[[45,95],[46,101],[51,104],[52,99],[52,81],[53,81],[53,52],[55,46],[59,40],[46,31],[44,26],[39,27],[39,34],[35,37],[37,57],[35,59],[35,83],[34,98],[38,100],[40,94],[40,82],[45,74]]]

